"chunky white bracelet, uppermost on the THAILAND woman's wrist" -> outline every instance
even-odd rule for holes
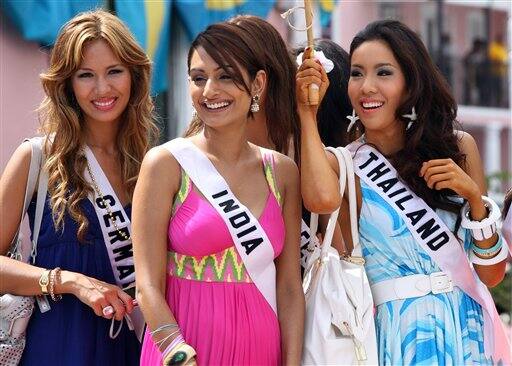
[[[481,221],[471,220],[468,202],[462,206],[461,210],[462,221],[460,226],[471,230],[471,236],[475,240],[485,240],[492,237],[496,233],[496,224],[501,218],[500,208],[496,202],[486,196],[482,196],[482,201],[484,201],[484,205],[489,211],[489,214]]]

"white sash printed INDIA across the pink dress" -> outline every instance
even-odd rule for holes
[[[238,201],[212,162],[192,142],[177,138],[162,146],[171,152],[222,217],[249,276],[277,314],[274,249],[258,220]]]

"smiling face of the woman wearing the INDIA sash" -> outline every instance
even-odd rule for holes
[[[249,76],[243,69],[242,76],[247,83]],[[189,80],[192,103],[207,126],[220,127],[247,120],[251,95],[237,86],[202,47],[190,59]]]

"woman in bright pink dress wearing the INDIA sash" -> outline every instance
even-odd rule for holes
[[[298,170],[292,159],[247,141],[248,119],[258,113],[268,83],[262,52],[236,24],[200,33],[188,69],[202,128],[154,148],[143,161],[132,221],[137,299],[148,324],[141,365],[300,363]],[[215,173],[195,178],[202,169],[181,163],[170,147],[176,142],[198,154],[192,162],[206,158]],[[268,238],[266,263],[248,264],[252,247],[244,253],[230,231],[238,223],[228,228],[230,221],[199,190],[217,174]],[[262,282],[255,264],[275,266],[275,274]]]

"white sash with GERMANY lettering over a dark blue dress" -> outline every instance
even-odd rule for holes
[[[89,200],[92,202],[96,215],[98,216],[103,240],[105,242],[105,247],[107,248],[110,265],[112,266],[112,272],[117,286],[126,289],[134,286],[135,284],[133,247],[132,239],[130,238],[130,218],[126,214],[121,201],[117,198],[116,192],[110,185],[110,182],[89,146],[84,146],[84,151],[87,162],[89,163],[92,174],[94,175],[94,180],[96,181],[100,192],[103,194],[103,200],[109,205],[110,211],[116,219],[117,228],[129,238],[128,240],[124,239],[124,237],[114,227],[110,215],[104,206],[103,200],[100,197],[96,197],[97,193],[93,189],[89,194]],[[84,178],[91,187],[94,187],[92,178],[87,169],[85,169]],[[132,314],[129,316],[127,315],[127,317],[130,319],[128,321],[128,326],[132,328],[130,324],[131,321],[135,328],[137,337],[141,340],[144,330],[144,319],[142,317],[142,313],[140,313],[139,307],[135,307]]]

